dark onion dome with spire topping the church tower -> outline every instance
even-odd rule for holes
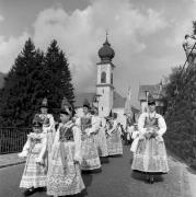
[[[111,44],[107,40],[107,36],[106,36],[106,40],[103,44],[103,47],[100,48],[99,50],[99,57],[101,58],[101,61],[112,61],[112,59],[115,56],[115,51],[114,49],[111,47]]]

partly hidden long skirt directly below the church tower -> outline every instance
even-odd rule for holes
[[[100,157],[107,157],[108,155],[107,140],[106,140],[106,135],[105,135],[104,128],[99,129],[97,134],[94,136],[94,140],[96,143],[99,155]]]

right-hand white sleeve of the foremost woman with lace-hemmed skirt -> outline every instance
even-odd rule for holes
[[[76,161],[81,163],[81,161],[82,161],[82,157],[81,157],[81,130],[78,126],[74,126],[72,129],[73,129],[74,144],[76,144],[73,158]]]

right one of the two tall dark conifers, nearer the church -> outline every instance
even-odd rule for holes
[[[74,94],[68,60],[56,40],[53,40],[47,48],[44,71],[43,86],[45,86],[51,113],[57,114],[61,100],[66,96],[73,104]]]

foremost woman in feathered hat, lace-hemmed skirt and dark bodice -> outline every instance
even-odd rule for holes
[[[72,121],[72,106],[67,101],[62,103],[47,174],[47,194],[55,197],[74,195],[84,188],[79,166],[81,130]]]

